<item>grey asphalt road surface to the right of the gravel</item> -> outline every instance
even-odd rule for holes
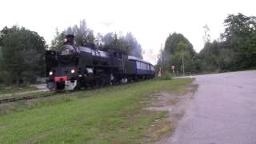
[[[195,76],[174,144],[256,144],[256,70]]]

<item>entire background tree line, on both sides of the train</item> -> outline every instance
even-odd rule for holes
[[[256,68],[256,18],[243,14],[230,14],[224,20],[225,30],[220,38],[210,41],[209,27],[204,26],[203,49],[197,53],[190,41],[182,34],[169,34],[161,47],[158,71],[208,73]],[[82,20],[79,25],[69,26],[66,30],[56,29],[50,46],[37,32],[25,27],[5,26],[0,31],[0,84],[20,84],[35,82],[44,77],[45,50],[58,50],[66,34],[74,34],[76,45],[93,44],[98,49],[118,48],[128,54],[142,58],[142,48],[131,33],[96,34]]]

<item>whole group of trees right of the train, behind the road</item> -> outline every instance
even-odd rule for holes
[[[210,73],[256,68],[256,18],[230,14],[224,20],[225,30],[218,40],[210,42],[209,27],[204,26],[205,45],[196,53],[182,34],[170,34],[161,48],[156,69],[175,74]]]

